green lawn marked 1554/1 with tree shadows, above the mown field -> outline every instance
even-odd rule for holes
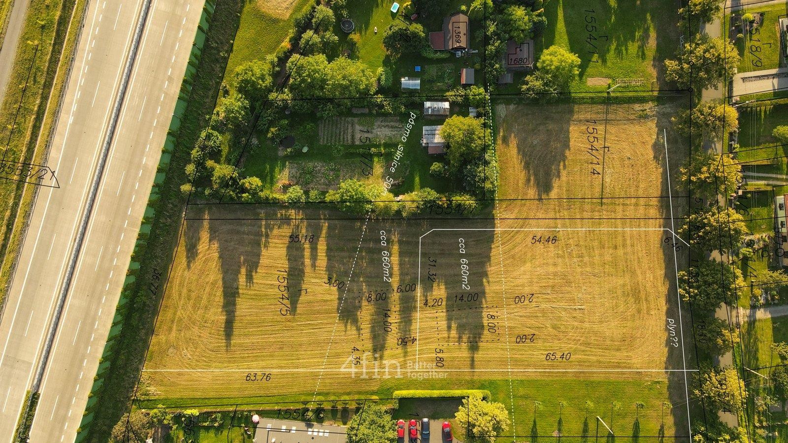
[[[652,89],[655,69],[672,55],[678,39],[677,17],[665,13],[664,3],[656,0],[548,0],[545,17],[547,29],[537,42],[537,54],[555,44],[579,55],[580,78],[572,91],[608,89],[607,83],[587,84],[592,77],[637,80],[617,90]]]

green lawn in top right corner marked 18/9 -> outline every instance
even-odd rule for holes
[[[760,71],[761,69],[774,69],[784,66],[785,63],[780,55],[780,41],[778,35],[779,17],[785,16],[785,5],[771,5],[763,7],[753,7],[736,12],[736,16],[741,17],[745,13],[756,15],[763,13],[761,24],[758,27],[741,27],[738,18],[734,18],[734,33],[742,34],[743,38],[736,38],[736,47],[742,61],[739,63],[738,71],[748,73],[750,71]],[[727,30],[730,25],[730,14],[725,16],[723,27]],[[723,32],[723,35],[725,32]]]

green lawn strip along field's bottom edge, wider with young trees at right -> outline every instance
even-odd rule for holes
[[[392,392],[396,389],[412,388],[414,383],[422,385],[427,382],[414,382],[414,380],[407,378],[389,378],[385,380],[381,389],[375,393],[346,393],[345,398],[370,398],[370,395],[378,396],[381,399],[391,398]],[[583,434],[594,437],[596,428],[595,417],[599,415],[604,419],[605,423],[614,430],[619,438],[628,437],[634,434],[641,436],[656,436],[660,434],[660,428],[667,436],[667,440],[671,440],[671,435],[675,435],[674,430],[674,417],[678,423],[686,423],[686,403],[679,397],[684,396],[684,389],[679,386],[673,386],[676,389],[675,409],[664,408],[663,402],[670,402],[668,395],[668,383],[650,380],[617,380],[614,377],[608,377],[608,380],[589,380],[582,377],[564,377],[556,376],[551,379],[539,379],[531,377],[517,377],[513,380],[511,387],[508,380],[478,380],[478,379],[458,379],[458,378],[435,378],[429,380],[429,385],[423,385],[425,389],[452,389],[457,386],[463,386],[467,389],[487,389],[492,394],[492,400],[498,401],[511,411],[512,399],[515,405],[515,431],[519,436],[523,435],[536,435],[545,438],[550,436],[554,431],[558,430],[561,426],[562,434],[564,436],[581,437]],[[511,389],[511,390],[510,390]],[[680,391],[680,392],[679,392]],[[320,393],[318,393],[320,394]],[[333,397],[330,394],[325,394],[326,398]],[[312,395],[308,395],[311,399]],[[189,404],[211,404],[217,399],[189,399],[179,401],[175,399],[158,399],[155,402],[165,402],[168,408],[188,408]],[[275,398],[234,398],[234,399],[218,399],[221,404],[233,404],[235,402],[245,404],[243,408],[251,410],[255,406],[255,401],[272,402],[277,401]],[[281,399],[281,400],[284,400]],[[291,399],[292,400],[292,399]],[[435,405],[430,401],[429,405],[419,405],[416,410],[421,415],[433,414],[437,418],[451,419],[452,409],[454,408],[455,400],[450,400],[451,405]],[[534,401],[537,404],[536,415],[534,416]],[[585,402],[590,401],[593,405],[589,411],[585,411]],[[645,407],[637,410],[634,406],[635,402],[641,401]],[[391,400],[381,400],[382,403],[388,404]],[[563,402],[563,407],[559,402]],[[616,408],[612,412],[611,417],[611,403],[615,403]],[[400,413],[396,415],[403,415],[413,409],[414,404],[411,400],[400,401]],[[224,408],[227,408],[226,406]],[[560,414],[559,414],[560,410]],[[635,422],[637,415],[637,425]],[[559,425],[560,419],[560,425]],[[588,427],[585,429],[587,420]],[[664,426],[664,427],[663,427]],[[459,438],[459,431],[455,424],[455,434]],[[601,427],[601,426],[600,426]],[[511,441],[511,427],[507,434],[499,437],[496,441],[504,443]],[[214,434],[217,438],[224,438],[227,440],[227,434],[217,433],[214,430],[206,431],[206,437],[201,438],[199,441],[219,441],[211,439]],[[507,435],[509,437],[507,437]],[[605,437],[606,432],[600,430],[600,437]],[[236,439],[235,436],[230,441],[242,441]],[[203,439],[205,438],[205,439]],[[522,440],[521,437],[518,441]],[[536,441],[532,439],[532,441]],[[539,441],[542,441],[540,438]],[[569,439],[568,441],[578,441],[578,438]],[[624,441],[628,441],[626,438]]]

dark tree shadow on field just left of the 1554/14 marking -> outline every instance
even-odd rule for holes
[[[503,117],[500,133],[508,137],[503,143],[514,143],[517,147],[522,173],[527,183],[536,188],[537,197],[540,199],[552,192],[565,167],[573,110],[574,106],[571,104],[520,104],[506,106],[505,111],[499,113]],[[530,114],[530,117],[524,118],[524,111]]]

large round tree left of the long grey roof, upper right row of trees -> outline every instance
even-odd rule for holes
[[[705,87],[716,89],[723,80],[733,78],[739,60],[732,43],[700,33],[684,43],[675,60],[665,61],[665,78],[696,91]]]

